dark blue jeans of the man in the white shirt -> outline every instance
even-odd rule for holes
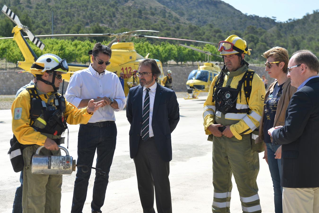
[[[115,123],[104,127],[80,125],[78,133],[78,160],[77,164],[92,166],[95,150],[97,152],[96,168],[106,172],[106,176],[95,172],[93,186],[92,211],[101,212],[104,204],[105,192],[108,186],[108,174],[113,161],[116,145],[117,129]],[[74,182],[73,201],[71,212],[82,212],[87,194],[87,187],[91,169],[83,172],[78,167]]]

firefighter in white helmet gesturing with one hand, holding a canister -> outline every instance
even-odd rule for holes
[[[58,145],[67,124],[86,124],[103,101],[77,109],[57,93],[63,73],[67,73],[65,59],[53,54],[39,57],[31,67],[35,85],[27,87],[12,103],[12,131],[22,144],[24,169],[23,212],[60,212],[62,175],[32,174],[31,158],[37,148],[40,155],[60,156]]]

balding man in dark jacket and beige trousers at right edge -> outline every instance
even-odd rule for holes
[[[268,130],[282,144],[283,212],[319,212],[319,61],[309,50],[293,54],[287,76],[298,87],[285,126]]]

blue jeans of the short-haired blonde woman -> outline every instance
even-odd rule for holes
[[[281,159],[275,159],[275,152],[280,145],[272,145],[272,143],[266,143],[268,166],[274,187],[274,202],[275,212],[282,213],[282,186],[280,186],[281,178]]]

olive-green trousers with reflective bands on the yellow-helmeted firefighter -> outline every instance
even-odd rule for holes
[[[225,115],[222,115],[222,118],[216,117],[215,122],[226,126],[238,121],[225,119]],[[232,138],[211,136],[209,139],[213,141],[214,186],[212,212],[230,212],[233,173],[239,191],[242,212],[261,212],[256,183],[259,172],[259,156],[258,152],[252,150],[251,134],[241,135],[241,140],[234,136]]]

